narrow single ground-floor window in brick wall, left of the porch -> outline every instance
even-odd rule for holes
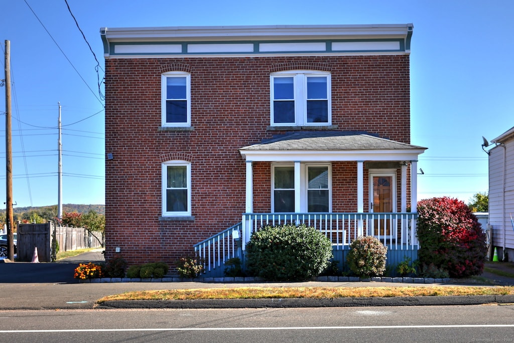
[[[162,215],[191,216],[191,164],[168,161],[162,164]]]

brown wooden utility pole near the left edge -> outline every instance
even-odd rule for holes
[[[14,261],[14,218],[12,213],[12,136],[11,136],[11,43],[5,41],[5,167],[7,258]]]

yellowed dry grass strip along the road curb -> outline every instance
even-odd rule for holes
[[[344,297],[411,297],[411,296],[471,296],[512,295],[514,287],[241,287],[212,289],[173,289],[135,291],[109,295],[97,301],[111,300],[195,300],[195,299],[272,299],[272,298],[344,298]]]

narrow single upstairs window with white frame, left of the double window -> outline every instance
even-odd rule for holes
[[[182,71],[162,74],[162,126],[191,126],[191,75]]]

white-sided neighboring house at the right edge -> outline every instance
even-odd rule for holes
[[[492,251],[514,261],[514,127],[492,140],[489,150],[489,224]]]

